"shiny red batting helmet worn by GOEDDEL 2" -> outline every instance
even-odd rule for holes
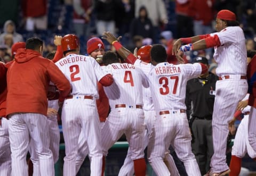
[[[63,52],[77,49],[79,47],[79,39],[74,34],[68,34],[61,39],[61,48]]]

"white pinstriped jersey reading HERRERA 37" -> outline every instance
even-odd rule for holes
[[[156,111],[186,109],[187,81],[202,72],[198,63],[173,65],[163,62],[154,66],[137,60],[134,65],[148,77]]]

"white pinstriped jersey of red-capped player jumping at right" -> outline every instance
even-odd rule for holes
[[[214,48],[214,60],[218,63],[216,74],[240,74],[246,76],[247,53],[244,32],[240,27],[227,27],[211,33],[220,39],[220,46]]]

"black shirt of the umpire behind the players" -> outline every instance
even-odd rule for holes
[[[192,119],[212,119],[217,80],[218,77],[209,72],[207,78],[194,78],[187,82],[185,103],[188,119],[190,115]]]

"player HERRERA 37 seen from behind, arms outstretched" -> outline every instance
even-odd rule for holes
[[[172,145],[185,164],[188,175],[200,175],[195,156],[191,152],[191,136],[184,102],[187,80],[205,73],[207,67],[201,63],[169,64],[162,45],[153,45],[150,51],[152,64],[145,64],[137,60],[110,32],[104,32],[103,38],[113,44],[118,54],[126,58],[126,62],[134,63],[143,70],[148,77],[150,90],[154,92],[156,122],[149,137],[148,159],[156,174],[170,175],[164,157]]]

